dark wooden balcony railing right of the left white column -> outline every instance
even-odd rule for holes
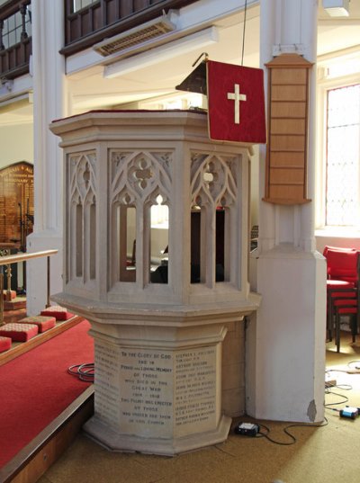
[[[170,9],[196,0],[98,0],[74,12],[73,0],[65,0],[65,47],[68,56],[105,38],[153,20]]]

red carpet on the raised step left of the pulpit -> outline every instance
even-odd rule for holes
[[[84,320],[0,367],[0,468],[90,385],[67,373],[94,362],[89,328]]]

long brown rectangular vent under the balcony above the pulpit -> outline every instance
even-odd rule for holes
[[[150,22],[142,23],[138,27],[124,31],[111,39],[103,40],[94,45],[94,50],[103,57],[110,56],[127,49],[134,49],[148,40],[155,40],[169,31],[175,30],[175,24],[166,16],[159,17]]]

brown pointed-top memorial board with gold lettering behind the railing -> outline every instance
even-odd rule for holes
[[[0,243],[24,249],[34,216],[33,165],[22,161],[0,170]]]

